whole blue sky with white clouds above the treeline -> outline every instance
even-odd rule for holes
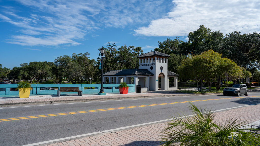
[[[167,37],[186,41],[204,25],[224,34],[260,32],[258,1],[0,0],[0,64],[6,68],[90,53],[107,42],[148,52]]]

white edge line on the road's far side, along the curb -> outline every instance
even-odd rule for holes
[[[211,94],[212,95],[212,94]],[[198,96],[198,95],[193,95]],[[40,106],[49,106],[49,105],[64,105],[64,104],[84,104],[84,103],[96,103],[96,102],[113,102],[113,101],[127,101],[127,100],[141,100],[141,99],[159,99],[159,98],[175,98],[175,97],[193,97],[193,96],[171,96],[171,97],[151,97],[151,98],[138,98],[138,99],[118,99],[118,100],[107,100],[107,101],[89,101],[89,102],[76,102],[76,103],[59,103],[59,104],[46,104],[46,105],[29,105],[21,107],[6,107],[0,109],[11,109],[11,108],[25,108],[25,107],[40,107]],[[210,95],[200,95],[200,96],[210,96]]]

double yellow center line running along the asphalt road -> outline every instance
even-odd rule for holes
[[[130,108],[152,107],[152,106],[167,105],[167,104],[177,104],[177,103],[187,103],[187,102],[199,102],[199,101],[212,101],[212,100],[234,99],[234,98],[245,98],[245,97],[259,97],[259,96],[240,96],[240,97],[231,97],[231,98],[204,99],[204,100],[193,100],[193,101],[182,101],[182,102],[171,102],[171,103],[138,105],[138,106],[132,106],[132,107],[121,107],[121,108],[109,108],[109,109],[97,109],[97,110],[85,110],[85,111],[75,111],[75,112],[64,112],[64,113],[48,114],[48,115],[37,115],[37,116],[27,116],[27,117],[17,117],[17,118],[0,119],[0,122],[4,122],[4,121],[14,121],[14,120],[23,120],[23,119],[31,119],[31,118],[60,116],[60,115],[69,115],[69,114],[80,114],[80,113],[86,113],[86,112],[97,112],[97,111],[107,111],[107,110],[119,110],[119,109],[130,109]]]

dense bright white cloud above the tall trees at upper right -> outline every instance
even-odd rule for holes
[[[166,17],[140,27],[136,35],[187,36],[204,25],[212,31],[228,34],[260,32],[260,3],[258,0],[173,0],[174,9]]]

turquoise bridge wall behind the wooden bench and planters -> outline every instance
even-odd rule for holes
[[[127,84],[129,86],[128,92],[134,92],[135,84]],[[104,89],[104,92],[119,92],[119,89],[115,89],[119,84],[103,84],[103,87],[112,87],[112,89]],[[0,91],[1,95],[19,95],[18,91],[10,91],[10,88],[16,88],[17,84],[0,84],[0,88],[6,88],[5,91]],[[40,90],[41,88],[53,87],[79,87],[83,94],[86,93],[97,93],[100,91],[101,84],[31,84],[32,91],[30,94],[57,94],[57,90]],[[97,87],[97,89],[84,89],[84,87]],[[70,92],[68,94],[74,94],[74,92]],[[77,92],[75,92],[77,94]]]

